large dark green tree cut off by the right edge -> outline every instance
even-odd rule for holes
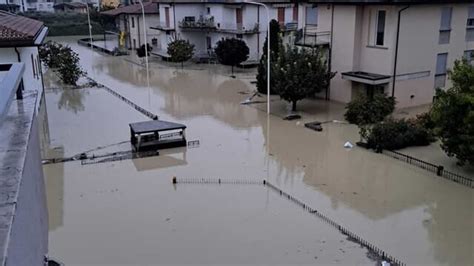
[[[431,109],[441,148],[460,165],[474,165],[474,66],[457,60],[448,72],[452,87],[437,90]]]

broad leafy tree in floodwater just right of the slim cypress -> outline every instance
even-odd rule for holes
[[[327,62],[319,49],[308,51],[289,46],[280,49],[273,69],[274,89],[282,99],[292,103],[292,111],[296,111],[299,100],[327,88],[335,75],[328,72]]]

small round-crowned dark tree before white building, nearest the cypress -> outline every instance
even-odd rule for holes
[[[249,57],[249,47],[241,39],[222,38],[217,42],[214,51],[219,63],[232,66],[232,74],[234,74],[234,66],[244,62]]]

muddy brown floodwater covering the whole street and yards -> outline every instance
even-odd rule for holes
[[[375,262],[333,227],[258,185],[178,184],[171,178],[270,180],[407,264],[474,264],[474,192],[360,148],[344,106],[308,100],[301,121],[286,105],[251,95],[255,70],[237,78],[219,65],[184,70],[151,60],[149,86],[134,56],[69,43],[89,76],[162,120],[188,126],[194,148],[158,157],[44,166],[50,255],[67,265],[343,264]],[[61,87],[46,74],[43,157],[126,150],[128,123],[149,120],[104,89]],[[265,98],[257,98],[265,100]],[[100,147],[107,146],[101,149]],[[99,147],[99,148],[98,148]]]

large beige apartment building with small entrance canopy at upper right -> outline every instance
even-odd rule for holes
[[[328,99],[348,102],[383,91],[397,107],[429,104],[450,86],[447,70],[474,62],[474,2],[353,0],[300,3],[317,7],[316,22],[298,22],[307,40],[327,47],[337,74]],[[314,18],[313,18],[314,21]]]

